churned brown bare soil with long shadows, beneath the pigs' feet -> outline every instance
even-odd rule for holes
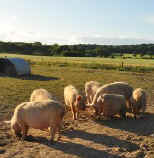
[[[154,157],[154,107],[142,119],[95,120],[91,111],[72,121],[64,118],[62,137],[54,144],[45,131],[31,129],[27,140],[12,136],[10,126],[0,123],[1,158],[152,158]]]

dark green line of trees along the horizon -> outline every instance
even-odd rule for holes
[[[114,57],[132,54],[134,56],[154,55],[154,44],[137,45],[46,45],[41,42],[0,42],[0,53],[16,53],[26,55],[69,56],[69,57]]]

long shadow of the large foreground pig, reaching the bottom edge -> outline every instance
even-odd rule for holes
[[[43,137],[35,137],[34,140],[32,141],[38,142],[40,144],[44,144],[54,150],[60,150],[65,154],[70,154],[72,157],[74,155],[84,158],[100,158],[100,157],[120,158],[120,156],[110,154],[104,150],[94,149],[92,147],[88,147],[79,143],[73,143],[70,141],[55,142],[54,144],[50,144],[50,142]],[[52,156],[52,155],[50,155],[49,153],[48,156]]]

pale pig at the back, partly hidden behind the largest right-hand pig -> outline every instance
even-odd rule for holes
[[[101,84],[97,81],[89,81],[85,83],[85,94],[86,94],[88,105],[92,103],[93,97],[100,86]]]

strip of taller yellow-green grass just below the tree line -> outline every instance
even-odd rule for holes
[[[154,70],[153,60],[149,59],[120,59],[120,58],[81,58],[81,57],[47,57],[14,55],[1,53],[0,57],[21,57],[31,64],[49,65],[58,67],[79,67],[87,69],[107,69],[133,72],[149,72]]]

